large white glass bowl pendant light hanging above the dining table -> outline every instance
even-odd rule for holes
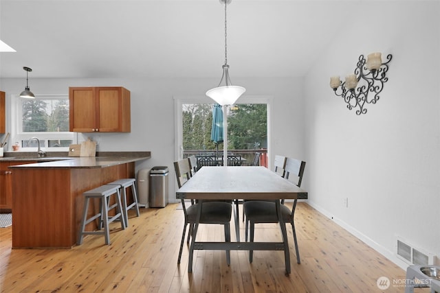
[[[221,75],[219,85],[206,92],[208,97],[214,99],[214,101],[221,106],[234,104],[235,101],[246,91],[243,86],[233,86],[229,78],[226,6],[231,3],[231,1],[232,0],[220,0],[221,3],[225,4],[225,64],[222,67],[223,75]]]

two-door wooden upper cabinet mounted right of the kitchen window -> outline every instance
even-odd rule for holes
[[[130,132],[130,91],[118,87],[70,87],[73,132]]]

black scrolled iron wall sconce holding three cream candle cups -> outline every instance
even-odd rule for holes
[[[381,55],[369,54],[368,60],[365,60],[363,55],[359,56],[355,73],[347,75],[345,82],[342,82],[339,76],[330,78],[330,87],[335,91],[335,95],[344,99],[349,110],[355,108],[356,115],[366,113],[366,104],[376,104],[380,92],[384,89],[384,83],[388,81],[386,72],[393,56],[388,54],[388,61],[382,63]]]

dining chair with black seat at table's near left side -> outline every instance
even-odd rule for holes
[[[177,178],[177,185],[180,188],[192,177],[190,160],[187,158],[174,162],[174,169]],[[201,204],[200,224],[222,224],[225,229],[225,242],[230,242],[230,220],[232,214],[232,205],[230,202],[208,201],[195,203],[193,200],[191,200],[190,205],[186,207],[186,202],[182,198],[181,206],[184,210],[185,218],[184,231],[181,235],[179,258],[177,259],[177,263],[180,263],[181,253],[184,248],[186,227],[188,225],[190,228],[186,243],[189,244],[190,235],[194,229],[197,219],[197,209],[199,204]],[[230,250],[226,250],[226,263],[228,263],[228,266],[230,265]]]

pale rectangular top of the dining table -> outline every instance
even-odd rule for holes
[[[192,199],[307,199],[307,191],[266,167],[201,167],[176,192]]]

